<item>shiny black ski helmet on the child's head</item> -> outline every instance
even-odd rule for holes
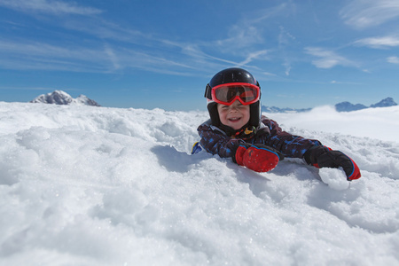
[[[254,79],[254,76],[245,69],[239,67],[231,67],[223,69],[214,75],[214,77],[207,84],[205,89],[205,98],[207,98],[207,111],[209,112],[212,125],[219,127],[221,122],[219,113],[217,113],[217,103],[212,100],[212,88],[217,85],[232,83],[232,82],[244,82],[253,84],[261,89],[259,82]],[[261,121],[261,100],[258,100],[254,104],[249,106],[250,118],[249,126],[259,127]]]

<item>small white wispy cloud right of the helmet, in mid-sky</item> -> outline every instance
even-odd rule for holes
[[[332,68],[334,66],[356,66],[356,63],[346,59],[335,51],[329,51],[319,47],[307,47],[306,53],[315,56],[319,59],[313,60],[312,64],[318,68]]]

